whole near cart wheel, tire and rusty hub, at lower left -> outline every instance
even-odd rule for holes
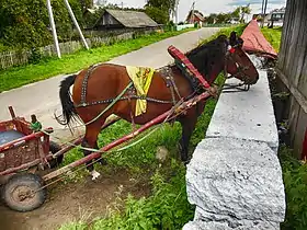
[[[43,205],[46,187],[39,175],[22,173],[13,175],[3,186],[2,196],[7,206],[16,211],[31,211]]]

